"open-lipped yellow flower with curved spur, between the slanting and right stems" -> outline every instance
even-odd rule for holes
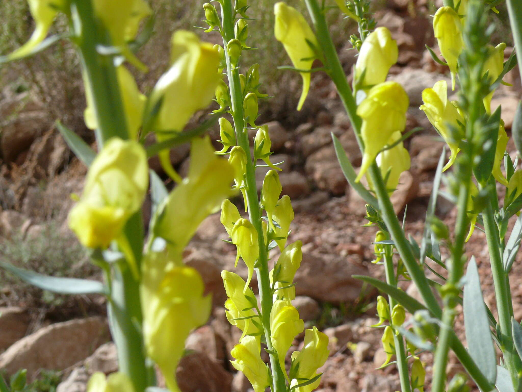
[[[460,151],[458,141],[452,140],[450,126],[460,128],[459,122],[464,123],[464,118],[459,114],[457,108],[448,100],[447,83],[445,80],[439,80],[433,88],[426,88],[422,91],[422,101],[420,109],[424,111],[428,120],[434,126],[435,130],[442,136],[449,146],[451,155],[449,162],[444,166],[442,171],[449,168],[455,162],[457,154]]]

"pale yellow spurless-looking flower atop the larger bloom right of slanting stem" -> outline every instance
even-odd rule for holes
[[[377,27],[364,40],[357,63],[355,80],[363,87],[383,83],[388,71],[397,62],[397,42],[386,27]],[[364,78],[363,78],[364,73]]]

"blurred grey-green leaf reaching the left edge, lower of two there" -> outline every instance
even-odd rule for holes
[[[0,268],[18,276],[24,282],[60,294],[106,294],[105,286],[95,280],[60,278],[24,270],[0,261]]]

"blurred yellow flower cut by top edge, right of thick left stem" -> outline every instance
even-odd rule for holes
[[[94,14],[109,32],[112,45],[139,70],[147,72],[147,67],[128,48],[127,42],[136,36],[141,19],[152,14],[149,5],[144,0],[93,0],[92,5]]]

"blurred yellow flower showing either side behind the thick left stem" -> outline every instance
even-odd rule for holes
[[[123,110],[127,121],[128,135],[130,139],[137,140],[147,97],[140,93],[136,80],[134,80],[134,77],[124,65],[120,65],[116,68],[116,76],[118,85],[120,86],[120,95],[122,97]],[[97,129],[98,121],[96,112],[94,112],[92,92],[88,83],[85,83],[85,96],[87,99],[87,108],[84,111],[85,125],[87,125],[89,129]]]

